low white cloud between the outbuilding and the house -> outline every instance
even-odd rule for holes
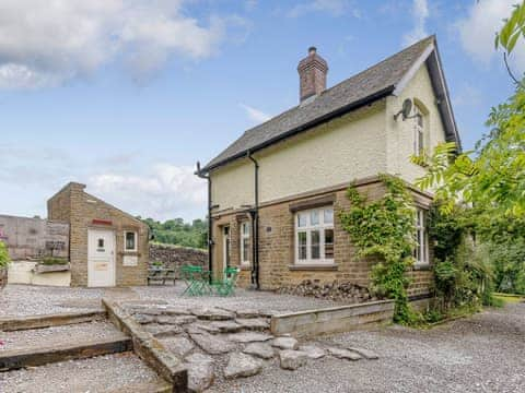
[[[195,168],[154,165],[144,175],[104,172],[89,178],[86,191],[142,217],[167,219],[203,217],[207,183]]]

